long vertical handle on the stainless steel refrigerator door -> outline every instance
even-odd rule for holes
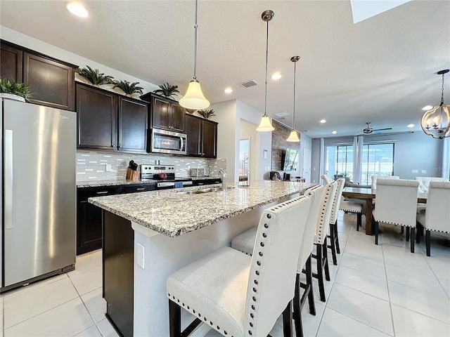
[[[13,131],[5,130],[5,229],[13,228]]]

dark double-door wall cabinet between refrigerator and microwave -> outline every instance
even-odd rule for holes
[[[77,83],[79,148],[146,153],[148,104]]]

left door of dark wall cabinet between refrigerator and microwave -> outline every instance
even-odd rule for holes
[[[117,95],[84,84],[77,87],[77,147],[117,150]]]

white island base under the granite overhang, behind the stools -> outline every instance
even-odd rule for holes
[[[140,225],[133,223],[134,336],[169,336],[166,279],[172,272],[223,246],[231,246],[233,237],[258,224],[264,209],[297,196],[298,194],[274,201],[179,237],[167,237],[148,228],[144,228],[144,231],[136,230]],[[155,235],[148,236],[142,232]],[[143,269],[136,261],[137,244],[144,246]],[[182,313],[181,326],[187,326],[194,318]],[[205,329],[205,326],[200,325],[198,329]]]

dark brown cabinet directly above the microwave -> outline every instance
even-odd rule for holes
[[[150,115],[152,128],[184,132],[184,116],[186,110],[176,102],[155,93],[146,93],[141,96],[142,100],[150,102]]]

